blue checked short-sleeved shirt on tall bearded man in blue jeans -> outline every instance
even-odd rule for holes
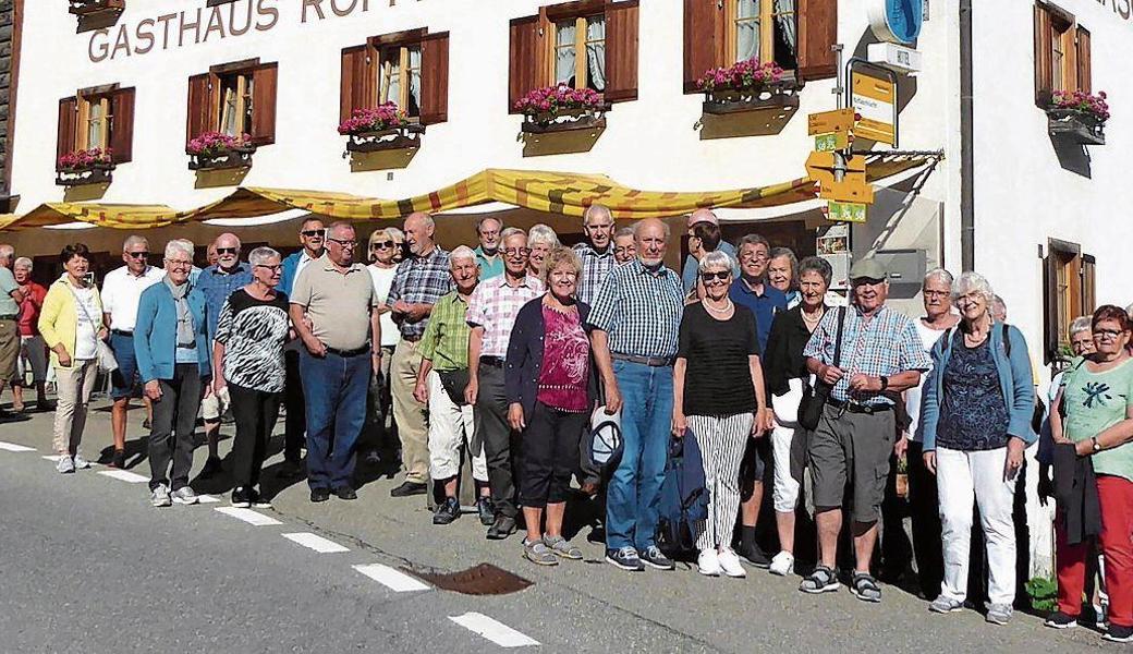
[[[606,275],[588,323],[610,334],[610,351],[672,358],[684,309],[681,278],[662,266],[651,273],[633,260]]]

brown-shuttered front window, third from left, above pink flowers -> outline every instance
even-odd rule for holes
[[[383,34],[342,50],[339,120],[384,102],[423,125],[449,119],[448,32]]]

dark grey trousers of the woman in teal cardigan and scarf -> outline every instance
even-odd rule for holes
[[[177,364],[173,379],[159,380],[161,399],[153,402],[150,430],[150,490],[159,484],[177,491],[189,484],[193,468],[193,430],[201,409],[201,371],[197,364]],[[169,464],[173,462],[172,483]]]

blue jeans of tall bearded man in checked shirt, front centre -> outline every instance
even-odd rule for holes
[[[606,546],[656,544],[673,419],[673,368],[614,359],[622,396],[622,460],[606,495]]]

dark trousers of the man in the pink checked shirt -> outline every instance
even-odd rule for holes
[[[503,368],[480,364],[479,392],[476,397],[476,439],[484,444],[488,467],[488,486],[497,517],[514,518],[516,506],[514,457],[519,439],[508,424],[508,397],[504,393]],[[576,447],[578,441],[576,441]],[[578,460],[578,450],[571,458],[571,470]]]

